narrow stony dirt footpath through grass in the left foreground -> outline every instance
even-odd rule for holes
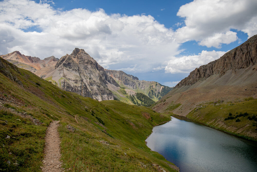
[[[57,131],[59,121],[53,121],[47,129],[45,136],[45,157],[43,160],[42,171],[64,171],[61,168],[61,152],[60,152],[60,137]]]

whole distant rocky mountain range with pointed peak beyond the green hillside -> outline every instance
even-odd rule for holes
[[[19,51],[1,57],[65,91],[98,101],[120,100],[128,104],[150,105],[172,90],[172,87],[154,81],[139,80],[123,71],[104,69],[79,48],[60,59],[51,56],[40,60],[37,57],[23,55]]]

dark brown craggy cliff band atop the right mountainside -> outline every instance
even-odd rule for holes
[[[189,76],[182,79],[176,87],[193,85],[201,79],[212,75],[223,76],[226,71],[232,69],[235,74],[237,69],[247,68],[257,63],[257,35],[249,38],[245,43],[224,54],[221,58],[206,65],[196,68]]]

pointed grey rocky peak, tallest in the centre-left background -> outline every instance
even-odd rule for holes
[[[119,86],[112,77],[107,75],[102,66],[79,48],[75,48],[70,55],[62,56],[54,70],[43,78],[48,78],[47,80],[55,82],[66,91],[98,101],[114,100],[106,84]]]

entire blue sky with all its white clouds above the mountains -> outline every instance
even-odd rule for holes
[[[107,69],[175,86],[257,34],[254,0],[0,1],[0,54],[84,49]]]

